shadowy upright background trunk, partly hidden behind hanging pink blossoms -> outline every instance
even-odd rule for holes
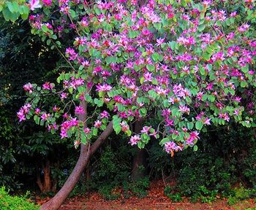
[[[142,120],[135,122],[135,133],[140,133],[142,129]],[[133,166],[132,166],[132,179],[138,180],[143,178],[145,175],[145,170],[141,170],[143,168],[146,169],[146,149],[137,149],[135,153],[135,157],[133,158]]]

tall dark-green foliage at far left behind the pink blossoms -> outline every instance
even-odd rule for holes
[[[47,158],[57,161],[53,153],[61,158],[67,142],[37,125],[18,124],[15,112],[25,100],[20,87],[31,80],[54,77],[52,70],[59,56],[31,35],[28,22],[23,20],[7,23],[1,18],[0,40],[0,186],[17,190],[28,184],[36,188],[34,177],[42,167],[39,163]],[[53,101],[45,98],[45,106]]]

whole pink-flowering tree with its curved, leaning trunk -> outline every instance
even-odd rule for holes
[[[254,1],[15,2],[0,6],[4,18],[26,19],[30,10],[31,32],[69,65],[56,84],[23,86],[28,99],[20,122],[34,118],[81,145],[74,171],[42,209],[59,208],[112,131],[140,149],[159,139],[173,156],[188,147],[196,151],[206,125],[255,126]],[[45,107],[49,94],[63,107]],[[132,133],[131,123],[150,118],[159,120],[156,128]]]

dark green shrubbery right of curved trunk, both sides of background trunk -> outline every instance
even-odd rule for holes
[[[237,125],[211,130],[198,142],[197,152],[188,149],[173,158],[162,152],[159,144],[148,145],[149,176],[137,182],[130,179],[134,150],[124,142],[108,144],[89,165],[90,179],[81,179],[72,195],[98,190],[111,200],[120,192],[124,198],[141,196],[146,195],[148,180],[164,179],[165,195],[172,201],[187,196],[190,201],[229,198],[233,203],[255,197],[255,131]],[[173,180],[176,184],[168,185]]]

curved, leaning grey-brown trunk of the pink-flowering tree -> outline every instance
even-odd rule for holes
[[[73,190],[75,187],[75,184],[77,184],[78,180],[80,179],[81,174],[83,173],[84,168],[86,167],[87,163],[89,162],[89,158],[91,158],[91,155],[94,154],[94,152],[97,151],[97,149],[102,145],[102,143],[105,141],[105,139],[108,138],[110,133],[113,131],[113,123],[112,121],[108,124],[105,131],[102,132],[102,134],[99,136],[97,141],[94,142],[94,144],[90,145],[87,143],[86,145],[81,145],[80,150],[80,156],[78,158],[78,162],[75,165],[75,168],[73,169],[72,173],[69,175],[69,178],[61,187],[61,190],[50,199],[47,203],[44,203],[40,210],[57,210],[61,206],[62,203],[67,199],[69,196],[69,193]]]

